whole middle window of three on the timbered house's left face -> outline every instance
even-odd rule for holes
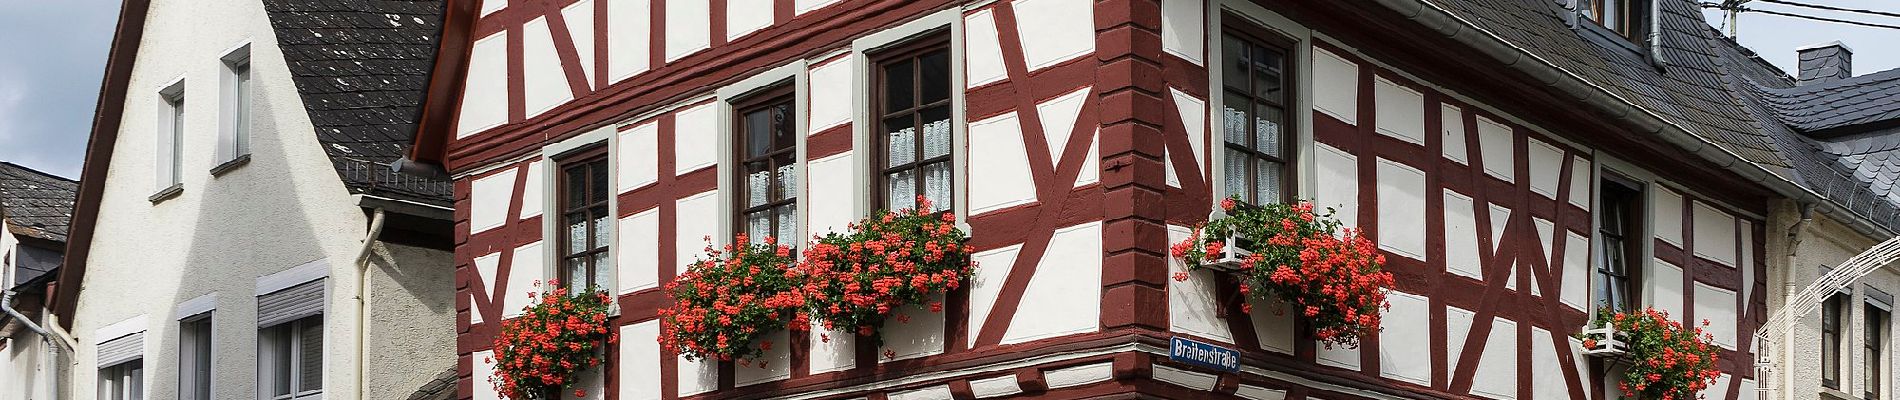
[[[766,237],[800,243],[798,237],[798,152],[790,87],[756,95],[735,106],[739,150],[739,195],[733,222],[752,243]]]

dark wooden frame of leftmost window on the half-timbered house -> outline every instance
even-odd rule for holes
[[[614,165],[614,157],[610,157],[608,146],[602,142],[598,146],[591,146],[591,148],[583,148],[583,150],[576,150],[576,152],[553,157],[553,163],[555,163],[557,169],[551,171],[555,174],[555,199],[553,199],[555,201],[553,203],[553,216],[555,218],[551,218],[551,220],[555,220],[555,235],[559,237],[559,241],[555,243],[557,246],[553,248],[555,250],[555,275],[553,277],[557,277],[564,286],[574,288],[574,277],[570,277],[572,273],[568,271],[568,260],[570,258],[585,258],[587,269],[589,269],[589,279],[602,277],[604,281],[608,281],[608,282],[593,282],[593,288],[612,290],[614,282],[610,282],[610,281],[614,281],[614,277],[612,277],[612,273],[608,273],[608,269],[616,267],[616,260],[614,260],[616,231],[614,229],[619,224],[619,220],[614,216],[614,203],[619,197],[619,190],[614,188],[616,186],[614,184],[614,167],[616,167]],[[608,239],[606,239],[606,243],[591,243],[595,237],[598,237],[598,233],[595,231],[593,224],[587,224],[587,241],[593,246],[589,246],[587,250],[581,250],[581,252],[568,252],[568,246],[572,245],[574,237],[568,235],[570,229],[568,229],[566,222],[568,222],[568,214],[576,212],[576,210],[568,209],[568,171],[574,169],[574,167],[587,167],[587,169],[591,169],[595,163],[600,163],[598,169],[600,169],[602,174],[606,174],[606,188],[598,188],[600,191],[606,193],[606,199],[600,201],[600,203],[581,205],[580,212],[583,216],[587,216],[589,222],[595,220],[595,218],[602,218],[602,216],[608,218],[608,224],[606,224],[606,229],[608,229],[606,235],[608,235]],[[593,180],[589,178],[589,184]],[[595,191],[589,188],[587,193],[591,195]],[[595,207],[604,209],[606,214],[595,216],[593,214]],[[543,212],[543,216],[547,212]],[[606,254],[606,264],[604,265],[598,264],[598,262],[595,262],[595,258],[600,256],[600,254]]]

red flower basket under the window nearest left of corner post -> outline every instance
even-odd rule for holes
[[[811,277],[804,290],[826,330],[853,328],[882,345],[878,328],[887,318],[908,322],[901,307],[929,303],[931,313],[942,313],[933,298],[960,288],[975,264],[956,214],[929,209],[929,199],[918,197],[918,209],[878,210],[811,245],[800,264]]]

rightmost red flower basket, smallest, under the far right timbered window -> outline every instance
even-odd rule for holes
[[[1617,389],[1626,398],[1697,398],[1716,383],[1718,349],[1699,326],[1683,326],[1664,311],[1596,313],[1596,328],[1577,334],[1586,355],[1613,356],[1626,368]],[[1708,320],[1702,320],[1708,326]]]

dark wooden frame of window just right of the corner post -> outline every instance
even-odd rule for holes
[[[1241,15],[1235,15],[1235,13],[1222,13],[1220,21],[1222,21],[1220,28],[1218,30],[1210,30],[1210,36],[1208,36],[1208,49],[1206,51],[1208,51],[1210,59],[1214,59],[1214,61],[1218,61],[1222,64],[1227,63],[1227,59],[1226,59],[1226,55],[1222,51],[1226,47],[1226,38],[1227,36],[1241,38],[1243,42],[1246,42],[1250,45],[1258,45],[1258,47],[1265,47],[1265,49],[1277,49],[1281,53],[1281,57],[1282,57],[1281,91],[1284,95],[1282,95],[1282,99],[1277,104],[1271,104],[1271,106],[1281,108],[1281,119],[1282,119],[1281,121],[1282,123],[1282,127],[1281,127],[1281,157],[1269,155],[1269,154],[1265,154],[1262,150],[1256,150],[1254,146],[1237,146],[1237,144],[1231,144],[1231,142],[1227,142],[1227,136],[1226,136],[1227,116],[1224,112],[1227,108],[1226,99],[1227,99],[1227,93],[1231,89],[1229,89],[1229,83],[1227,83],[1224,68],[1220,64],[1216,64],[1214,61],[1208,63],[1208,76],[1212,76],[1212,80],[1208,80],[1208,83],[1210,83],[1208,112],[1212,114],[1212,118],[1208,119],[1210,123],[1208,123],[1206,135],[1208,135],[1210,142],[1218,140],[1218,146],[1210,144],[1208,150],[1206,150],[1206,152],[1212,152],[1216,155],[1216,157],[1210,157],[1212,163],[1206,165],[1206,169],[1212,169],[1210,176],[1214,176],[1214,180],[1208,180],[1208,186],[1216,193],[1214,201],[1227,199],[1227,197],[1235,195],[1233,191],[1227,190],[1227,182],[1226,182],[1227,150],[1237,150],[1237,152],[1244,152],[1244,154],[1250,155],[1248,157],[1248,169],[1246,169],[1248,171],[1246,186],[1250,190],[1248,190],[1248,193],[1243,195],[1243,199],[1244,197],[1252,197],[1254,193],[1260,191],[1260,188],[1256,188],[1260,184],[1260,180],[1258,180],[1258,176],[1254,176],[1256,171],[1258,171],[1258,165],[1254,165],[1254,163],[1262,161],[1262,159],[1281,165],[1281,188],[1279,188],[1281,199],[1279,201],[1281,203],[1290,203],[1294,199],[1300,199],[1302,197],[1302,190],[1305,190],[1305,184],[1302,180],[1303,180],[1305,171],[1307,171],[1307,167],[1303,165],[1305,157],[1302,157],[1300,148],[1305,148],[1309,144],[1309,135],[1305,133],[1305,127],[1307,127],[1307,123],[1303,123],[1303,121],[1307,121],[1305,116],[1300,116],[1302,112],[1296,112],[1296,110],[1305,110],[1303,104],[1309,104],[1309,99],[1303,97],[1307,93],[1307,91],[1303,91],[1303,85],[1307,83],[1307,76],[1305,76],[1307,68],[1302,66],[1302,64],[1305,64],[1305,61],[1311,59],[1309,53],[1307,53],[1307,49],[1305,49],[1309,45],[1305,45],[1303,40],[1300,40],[1300,38],[1292,38],[1288,34],[1282,34],[1282,32],[1277,32],[1273,28],[1262,27],[1260,23],[1254,23],[1254,21],[1250,21],[1246,17],[1241,17]],[[1252,108],[1256,108],[1256,104],[1262,102],[1262,99],[1256,97],[1254,87],[1252,87],[1252,82],[1254,82],[1252,72],[1254,70],[1248,68],[1248,76],[1246,76],[1248,87],[1246,87],[1246,93],[1244,93],[1248,97],[1250,114],[1252,114]],[[1258,144],[1260,138],[1258,138],[1258,133],[1254,131],[1254,127],[1256,125],[1248,123],[1248,140],[1254,142],[1254,144]],[[1243,201],[1243,203],[1246,203],[1246,201]]]

